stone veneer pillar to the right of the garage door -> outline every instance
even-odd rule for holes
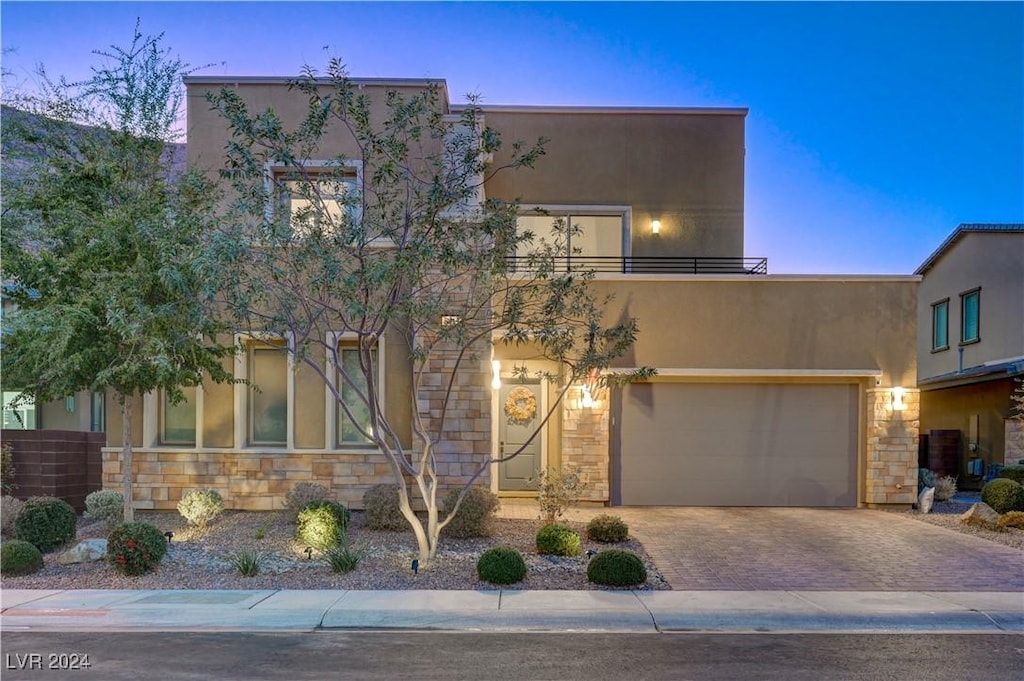
[[[913,504],[918,500],[918,434],[921,391],[906,390],[906,409],[893,411],[890,391],[867,393],[867,446],[864,503]]]

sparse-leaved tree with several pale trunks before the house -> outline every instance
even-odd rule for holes
[[[637,327],[603,324],[592,273],[564,266],[572,225],[519,233],[515,203],[480,201],[489,176],[532,166],[545,140],[513,143],[494,167],[502,140],[481,124],[475,100],[452,117],[437,85],[377,96],[337,59],[324,77],[306,68],[291,90],[308,104],[294,127],[272,110],[251,112],[237,90],[208,95],[230,131],[222,175],[233,186],[211,269],[224,276],[218,288],[239,326],[287,337],[294,364],[325,381],[346,421],[386,458],[426,564],[469,485],[518,454],[483,461],[442,516],[447,419],[467,391],[487,389],[495,339],[558,363],[549,378],[560,399],[624,354]],[[339,140],[351,157],[325,158]],[[375,348],[389,331],[409,357],[409,417],[387,413],[381,399]],[[352,339],[357,361],[339,356],[338,334]],[[412,445],[402,442],[407,418]]]

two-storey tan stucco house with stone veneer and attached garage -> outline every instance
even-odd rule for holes
[[[380,97],[426,81],[359,83]],[[193,77],[186,84],[188,159],[207,168],[222,164],[227,133],[205,91],[237,88],[292,123],[304,104],[285,79]],[[608,504],[914,501],[920,280],[774,275],[763,259],[744,257],[745,115],[484,107],[486,124],[507,140],[551,139],[536,169],[499,174],[486,196],[519,198],[523,228],[550,223],[530,214],[532,207],[581,226],[575,245],[600,270],[593,286],[615,295],[609,318],[639,321],[639,339],[618,368],[658,371],[649,383],[622,389],[573,386],[534,446],[495,466],[484,482],[499,495],[529,495],[538,470],[571,466],[586,474],[587,499]],[[339,137],[325,146],[325,158],[354,154]],[[496,154],[496,165],[505,154]],[[381,349],[385,409],[408,421],[400,337],[387,336]],[[509,383],[514,367],[542,368],[528,349],[496,344],[493,353],[460,387],[459,413],[450,419],[457,429],[439,449],[452,483],[516,444],[521,429],[505,417],[512,388],[529,390],[542,409],[554,394],[545,383]],[[493,367],[503,379],[497,389]],[[258,396],[244,385],[208,385],[179,406],[146,396],[134,429],[140,508],[173,508],[183,491],[214,486],[230,507],[275,509],[300,480],[322,482],[358,507],[370,485],[388,481],[384,459],[349,441],[317,379],[289,373],[280,352],[256,345],[240,354],[234,371],[259,383]],[[112,412],[104,450],[111,487],[121,479],[117,418]]]

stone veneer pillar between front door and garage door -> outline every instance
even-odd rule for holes
[[[565,395],[562,411],[562,466],[581,469],[587,490],[581,501],[610,499],[608,466],[608,397],[594,407],[580,407],[582,389],[573,386]]]

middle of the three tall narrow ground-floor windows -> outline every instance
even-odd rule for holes
[[[247,351],[249,366],[249,443],[288,443],[288,351],[283,344],[254,341]]]

